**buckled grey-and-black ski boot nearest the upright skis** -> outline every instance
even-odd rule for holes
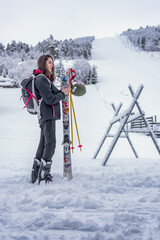
[[[45,183],[52,182],[52,175],[50,174],[51,171],[52,161],[45,161],[44,159],[41,160],[40,168],[38,171],[38,184],[41,181],[45,181]]]

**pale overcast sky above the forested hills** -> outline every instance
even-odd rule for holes
[[[160,0],[0,0],[0,42],[36,45],[160,24]]]

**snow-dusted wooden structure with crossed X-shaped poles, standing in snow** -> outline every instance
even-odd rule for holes
[[[107,130],[106,130],[106,132],[105,132],[105,134],[104,134],[104,136],[103,136],[103,138],[102,138],[102,140],[101,140],[101,142],[98,146],[98,149],[96,150],[96,152],[93,156],[94,159],[97,157],[97,155],[98,155],[98,153],[99,153],[99,151],[100,151],[100,149],[101,149],[102,145],[104,144],[107,137],[113,137],[113,139],[111,141],[111,144],[108,148],[108,151],[107,151],[107,153],[104,157],[103,165],[106,165],[106,163],[107,163],[107,161],[108,161],[108,159],[109,159],[109,157],[110,157],[110,155],[111,155],[119,137],[127,138],[128,142],[129,142],[129,145],[131,146],[135,157],[138,158],[138,154],[136,153],[136,150],[133,147],[133,144],[132,144],[131,139],[129,137],[130,132],[147,133],[152,138],[152,141],[153,141],[158,153],[160,154],[160,148],[159,148],[158,142],[156,140],[156,136],[155,136],[155,134],[152,130],[152,127],[150,126],[150,123],[149,123],[148,119],[145,117],[144,111],[142,111],[142,109],[141,109],[141,107],[138,103],[138,98],[139,98],[139,96],[140,96],[140,94],[143,90],[143,85],[140,85],[140,87],[137,89],[137,91],[135,93],[134,93],[131,85],[129,85],[128,88],[129,88],[130,93],[133,97],[130,106],[128,107],[127,110],[123,111],[122,113],[119,113],[119,111],[122,107],[122,103],[117,108],[115,108],[114,104],[112,104],[112,107],[114,109],[114,116],[111,119],[111,121],[109,122],[108,128],[107,128]],[[137,107],[138,112],[133,115],[132,111],[133,111],[135,106]],[[127,124],[130,123],[130,122],[133,122],[133,121],[135,121],[136,119],[139,119],[139,118],[143,119],[143,122],[146,126],[146,129],[144,129],[144,130],[143,129],[140,129],[140,130],[138,129],[136,131],[135,130],[134,131],[128,130]],[[117,122],[120,123],[120,125],[117,129],[117,132],[115,134],[110,134],[110,130],[112,129],[112,126]]]

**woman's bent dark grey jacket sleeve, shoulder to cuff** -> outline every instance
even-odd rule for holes
[[[65,98],[65,94],[62,91],[52,92],[50,83],[45,77],[36,79],[36,87],[40,96],[48,105],[56,104]]]

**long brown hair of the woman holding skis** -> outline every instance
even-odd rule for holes
[[[52,69],[52,74],[51,76],[49,76],[48,71],[46,69],[46,61],[48,60],[48,58],[51,58],[53,60],[53,58],[49,54],[40,56],[37,64],[38,68],[44,73],[44,75],[46,75],[50,79],[50,81],[53,82],[55,80],[54,65]]]

